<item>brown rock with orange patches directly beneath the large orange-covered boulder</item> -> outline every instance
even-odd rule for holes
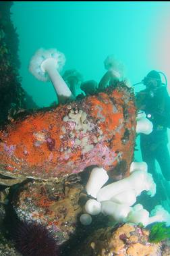
[[[76,230],[82,190],[76,175],[60,182],[32,181],[13,193],[11,204],[20,220],[45,226],[61,245]]]

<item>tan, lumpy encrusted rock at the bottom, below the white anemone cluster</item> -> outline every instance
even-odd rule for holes
[[[161,256],[159,244],[148,242],[149,232],[138,226],[123,226],[96,230],[84,241],[80,248],[71,253],[72,256]]]

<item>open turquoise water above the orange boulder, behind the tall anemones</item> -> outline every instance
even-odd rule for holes
[[[55,100],[51,83],[39,82],[28,71],[40,47],[64,53],[63,72],[76,68],[84,80],[99,82],[103,61],[113,54],[125,64],[132,84],[150,70],[165,72],[169,81],[169,11],[170,3],[161,1],[14,1],[11,20],[19,34],[22,86],[40,107]]]

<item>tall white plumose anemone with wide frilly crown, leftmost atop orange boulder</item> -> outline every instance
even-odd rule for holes
[[[29,71],[41,81],[51,80],[57,93],[59,103],[67,99],[74,99],[72,92],[60,76],[59,71],[65,63],[65,55],[57,49],[38,49],[30,60]]]

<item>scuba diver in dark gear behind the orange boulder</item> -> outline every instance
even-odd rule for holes
[[[162,72],[150,71],[142,80],[146,86],[136,94],[136,106],[144,111],[153,124],[150,134],[140,134],[142,159],[148,165],[148,172],[155,178],[155,160],[158,161],[165,180],[170,181],[170,156],[167,128],[170,128],[170,97],[166,84],[161,81]],[[166,77],[165,77],[166,80]]]

